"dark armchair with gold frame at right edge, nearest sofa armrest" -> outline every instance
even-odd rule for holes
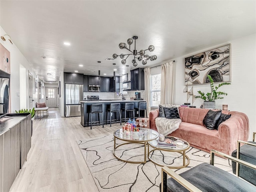
[[[240,160],[256,165],[256,132],[253,133],[252,142],[237,141],[237,149],[232,152],[232,157],[236,157]],[[244,144],[241,146],[241,143]],[[244,180],[256,185],[256,170],[252,170],[246,166],[239,165],[232,161],[232,171],[237,176]]]

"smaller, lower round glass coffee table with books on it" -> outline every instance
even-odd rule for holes
[[[152,140],[152,141],[148,142],[148,159],[156,165],[167,166],[167,167],[172,168],[172,169],[180,169],[180,168],[184,168],[184,167],[188,166],[189,163],[190,163],[190,159],[186,155],[186,150],[188,150],[189,147],[190,147],[189,143],[186,142],[185,140],[177,138],[177,137],[166,136],[166,138],[170,138],[172,140],[173,144],[176,144],[177,142],[179,142],[179,143],[182,143],[183,146],[174,146],[174,147],[161,146],[161,145],[158,145],[158,139]],[[149,150],[149,147],[152,147],[153,149]],[[168,166],[167,164],[161,164],[159,162],[156,162],[155,160],[153,160],[150,157],[150,154],[155,150],[159,150],[160,152],[161,151],[178,152],[178,153],[182,154],[183,164],[181,166]],[[187,162],[186,162],[186,160],[187,160]]]

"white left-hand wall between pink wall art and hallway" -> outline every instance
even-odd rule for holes
[[[0,35],[3,36],[6,34],[4,29],[0,26]],[[10,98],[11,98],[11,110],[9,112],[14,113],[15,110],[20,110],[20,64],[26,68],[26,108],[29,108],[29,99],[28,99],[28,71],[33,75],[33,78],[36,77],[34,69],[20,52],[20,50],[15,45],[15,42],[12,40],[11,44],[8,40],[3,41],[0,39],[0,43],[10,52]],[[33,94],[33,99],[35,100],[33,106],[38,101],[37,93]]]

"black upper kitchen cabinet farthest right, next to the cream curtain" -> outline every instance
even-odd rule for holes
[[[131,70],[131,90],[144,90],[144,69]]]

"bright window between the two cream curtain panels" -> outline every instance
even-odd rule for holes
[[[160,104],[161,96],[161,74],[150,76],[150,106],[156,106]]]

